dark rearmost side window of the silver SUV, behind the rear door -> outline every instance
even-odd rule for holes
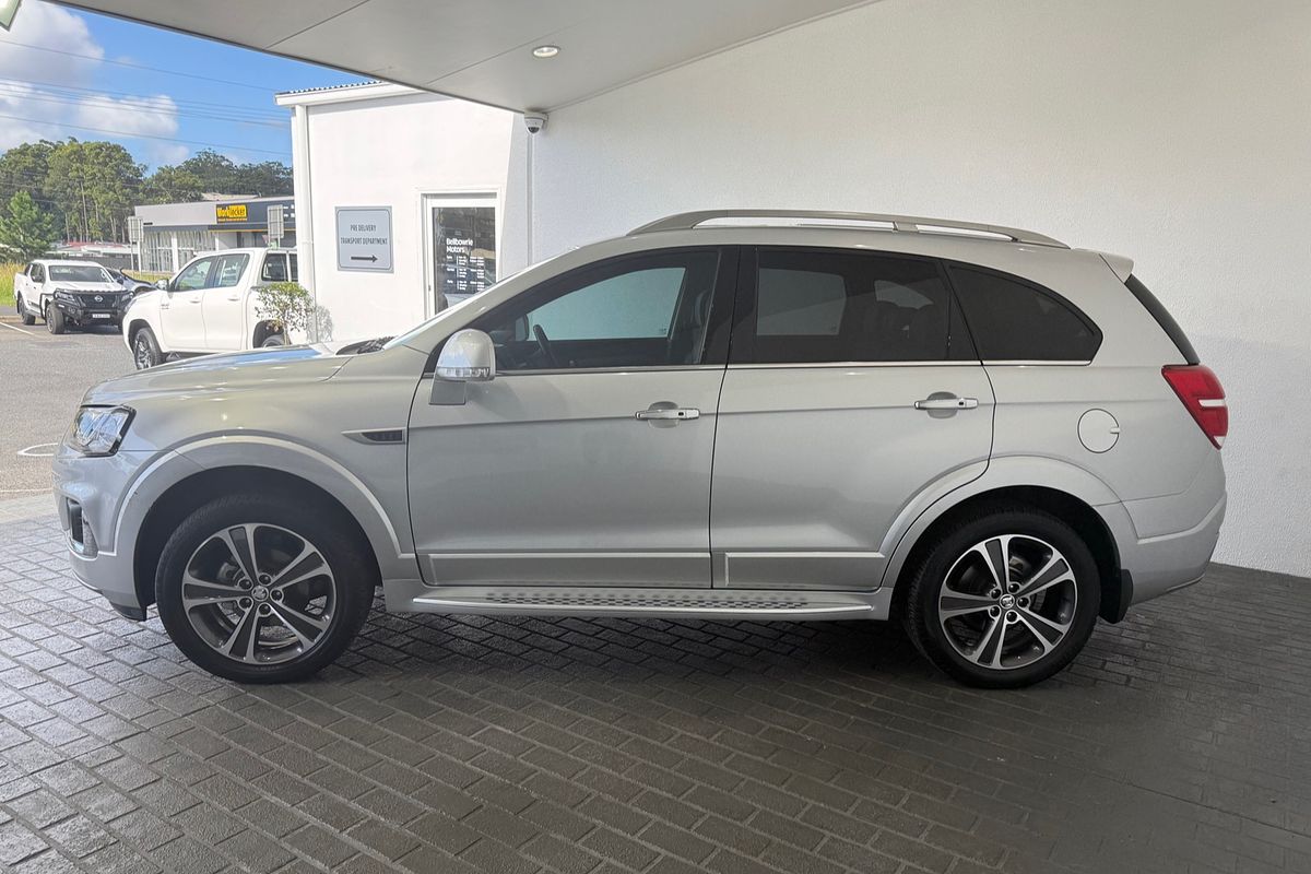
[[[1101,332],[1055,292],[952,265],[952,283],[985,362],[1091,362]]]

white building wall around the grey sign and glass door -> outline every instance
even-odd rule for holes
[[[308,170],[295,168],[313,200],[313,291],[334,341],[397,334],[425,317],[423,194],[496,193],[498,273],[523,265],[522,208],[506,189],[515,115],[431,94],[315,104]],[[522,182],[523,156],[517,177]],[[392,273],[338,270],[337,207],[392,207]],[[507,221],[517,233],[503,235]],[[309,248],[309,246],[305,246]],[[304,249],[303,249],[304,252]]]

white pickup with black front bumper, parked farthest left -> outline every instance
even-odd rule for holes
[[[24,325],[46,320],[51,334],[122,321],[132,292],[94,261],[41,258],[13,276],[13,304]]]

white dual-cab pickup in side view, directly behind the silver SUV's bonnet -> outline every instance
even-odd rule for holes
[[[138,370],[172,356],[283,346],[291,339],[260,316],[257,291],[295,279],[296,253],[286,249],[198,254],[176,276],[132,299],[123,341]]]

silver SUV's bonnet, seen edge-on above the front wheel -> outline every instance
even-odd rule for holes
[[[189,358],[111,379],[87,392],[84,404],[128,404],[156,394],[203,396],[267,387],[320,383],[350,362],[324,345],[278,346],[249,352]]]

